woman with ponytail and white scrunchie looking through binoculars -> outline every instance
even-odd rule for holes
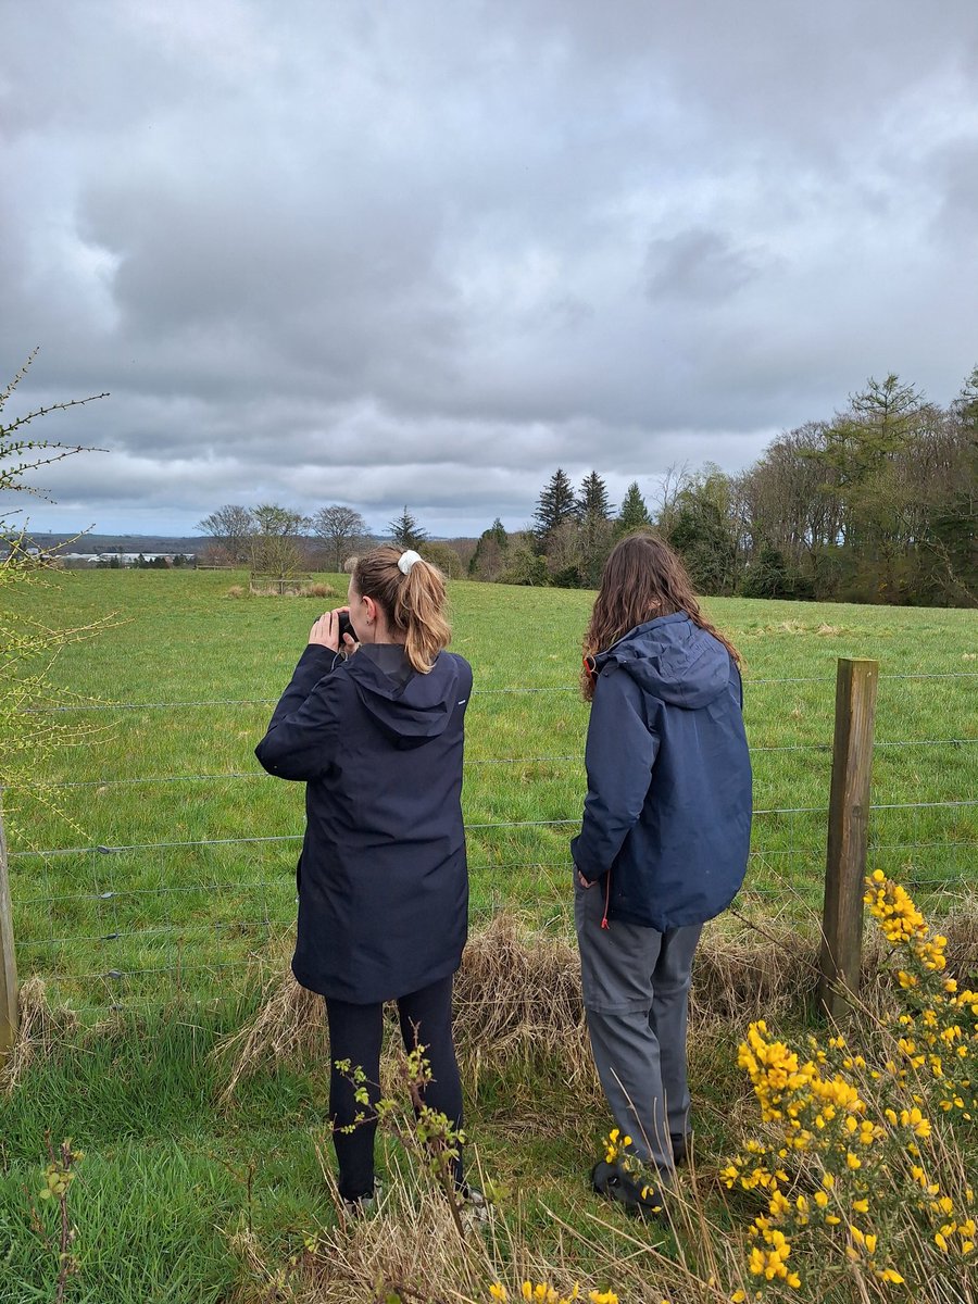
[[[348,606],[313,625],[256,748],[269,773],[306,784],[292,971],[326,1001],[330,1119],[351,1211],[374,1194],[386,1000],[398,1003],[406,1048],[425,1048],[424,1103],[462,1127],[451,985],[468,918],[460,798],[472,670],[445,651],[445,606],[441,571],[416,552],[360,558]],[[340,636],[343,613],[355,636]],[[352,1069],[366,1076],[366,1108]],[[455,1185],[482,1202],[460,1157]]]

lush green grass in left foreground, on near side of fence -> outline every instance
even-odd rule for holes
[[[222,1299],[237,1275],[228,1235],[245,1210],[249,1163],[262,1230],[292,1224],[321,1101],[300,1076],[279,1076],[249,1085],[232,1119],[215,1114],[209,1055],[244,1013],[201,1020],[170,1004],[146,1021],[120,1018],[0,1098],[0,1300],[53,1297],[57,1254],[31,1231],[29,1200],[50,1224],[53,1211],[37,1200],[46,1131],[85,1154],[70,1188],[82,1265],[72,1300]],[[314,1201],[303,1194],[309,1217]]]

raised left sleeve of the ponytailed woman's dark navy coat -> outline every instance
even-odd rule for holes
[[[310,643],[275,707],[254,755],[278,778],[318,778],[339,745],[336,696],[331,670],[342,664],[330,648]]]

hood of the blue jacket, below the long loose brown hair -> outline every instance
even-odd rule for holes
[[[670,705],[695,711],[730,682],[730,653],[683,612],[636,625],[595,659],[601,672],[618,665],[645,692]]]

